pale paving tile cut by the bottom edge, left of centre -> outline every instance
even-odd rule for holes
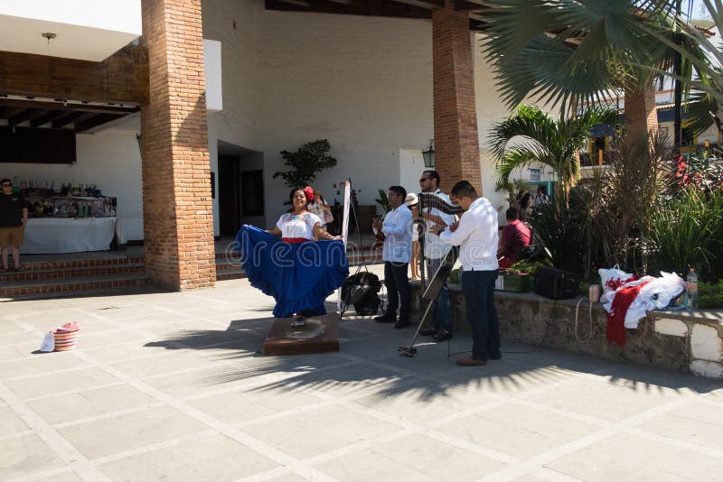
[[[99,466],[111,480],[237,480],[277,467],[258,452],[213,434]],[[213,474],[213,477],[209,477]]]

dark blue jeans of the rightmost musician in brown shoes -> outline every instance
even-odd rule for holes
[[[486,360],[500,357],[500,320],[494,308],[494,271],[465,271],[462,292],[465,294],[467,322],[472,329],[472,357]]]

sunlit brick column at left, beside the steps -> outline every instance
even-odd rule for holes
[[[201,0],[143,0],[146,271],[174,290],[216,283]]]

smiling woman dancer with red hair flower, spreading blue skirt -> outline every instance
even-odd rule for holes
[[[314,195],[294,188],[292,209],[273,229],[244,225],[236,236],[249,282],[274,297],[277,318],[324,315],[324,300],[349,275],[341,236],[321,229],[321,219],[306,209],[309,198]]]

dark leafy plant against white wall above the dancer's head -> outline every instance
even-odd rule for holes
[[[281,151],[284,164],[291,169],[274,172],[272,178],[281,177],[289,188],[307,186],[316,179],[317,172],[332,169],[336,165],[336,159],[329,155],[331,149],[329,141],[319,139],[300,145],[293,153]]]

